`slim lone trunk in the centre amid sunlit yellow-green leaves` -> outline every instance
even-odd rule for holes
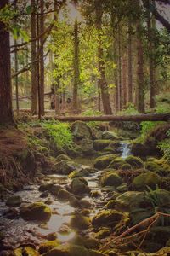
[[[78,84],[80,82],[79,72],[79,38],[78,38],[78,21],[74,25],[74,84],[73,84],[73,111],[78,111]]]

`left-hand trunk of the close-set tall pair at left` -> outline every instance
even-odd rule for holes
[[[36,1],[31,0],[31,38],[37,37]],[[37,58],[36,40],[31,42],[31,113],[37,114]]]

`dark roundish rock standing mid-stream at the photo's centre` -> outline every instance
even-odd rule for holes
[[[86,194],[89,192],[88,182],[83,177],[73,178],[71,181],[71,192],[75,195]]]

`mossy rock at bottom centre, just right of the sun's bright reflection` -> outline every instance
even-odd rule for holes
[[[88,230],[91,225],[91,218],[76,214],[71,217],[70,225],[74,230]]]

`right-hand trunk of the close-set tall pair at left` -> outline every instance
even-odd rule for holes
[[[44,11],[44,0],[41,0],[41,14],[43,14]],[[44,32],[44,16],[40,15],[40,34]],[[44,37],[40,38],[40,48],[41,48],[41,53],[40,53],[40,88],[39,88],[39,97],[40,97],[40,102],[39,102],[39,112],[40,115],[44,115],[44,60],[43,60],[43,40]]]

